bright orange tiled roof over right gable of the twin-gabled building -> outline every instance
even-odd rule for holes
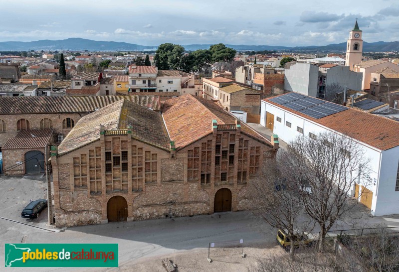
[[[171,140],[181,149],[212,133],[212,120],[217,125],[234,124],[235,117],[210,100],[193,95],[184,95],[165,101],[162,116]],[[241,133],[270,145],[263,136],[241,123]]]

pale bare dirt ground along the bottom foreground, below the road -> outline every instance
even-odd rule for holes
[[[241,257],[242,248],[223,248],[216,249],[211,252],[212,262],[209,263],[206,258],[208,254],[207,248],[194,249],[170,255],[157,256],[149,258],[139,263],[125,264],[117,271],[151,271],[165,272],[162,266],[162,260],[169,258],[177,265],[178,272],[198,272],[198,271],[215,271],[215,272],[250,272],[256,267],[259,259],[268,258],[276,253],[283,253],[284,250],[279,246],[263,244],[245,246],[243,252],[245,258]]]

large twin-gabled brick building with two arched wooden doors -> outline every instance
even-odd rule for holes
[[[196,96],[165,101],[162,114],[117,101],[52,147],[56,225],[242,210],[250,177],[277,148]]]

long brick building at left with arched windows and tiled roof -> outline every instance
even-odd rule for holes
[[[0,149],[4,149],[3,169],[8,169],[4,174],[35,173],[26,161],[28,151],[44,153],[45,145],[61,141],[83,116],[122,98],[160,111],[157,96],[0,97]]]

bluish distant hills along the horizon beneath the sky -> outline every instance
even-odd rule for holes
[[[186,50],[194,51],[197,49],[208,49],[212,44],[188,44],[183,45]],[[271,46],[271,45],[233,45],[226,46],[234,48],[237,51],[261,51],[261,50],[284,50],[284,51],[328,51],[328,52],[344,52],[346,50],[346,42],[329,44],[324,46]],[[68,38],[64,40],[38,40],[38,41],[4,41],[0,42],[1,50],[89,50],[89,51],[144,51],[155,50],[155,46],[139,45],[127,42],[115,41],[94,41],[82,38]],[[399,41],[392,42],[364,42],[364,52],[383,52],[383,51],[399,51]]]

